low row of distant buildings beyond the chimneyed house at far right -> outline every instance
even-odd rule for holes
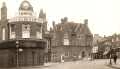
[[[102,40],[98,40],[97,46],[98,51],[95,53],[94,58],[109,58],[110,53],[117,53],[118,57],[120,57],[119,34],[113,34],[112,36],[106,36]]]

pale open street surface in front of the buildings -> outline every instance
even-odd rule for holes
[[[120,59],[118,59],[117,64],[114,64],[112,61],[112,65],[109,64],[109,59],[96,59],[92,61],[79,60],[63,63],[46,63],[44,66],[21,67],[19,69],[120,69]]]

